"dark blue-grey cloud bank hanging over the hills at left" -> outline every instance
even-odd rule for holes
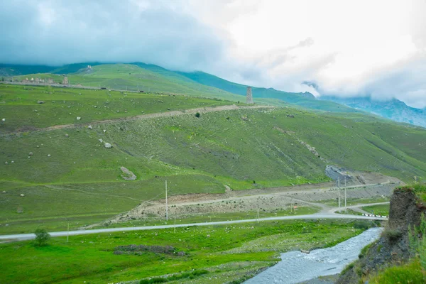
[[[0,62],[141,61],[196,70],[221,60],[226,42],[175,3],[2,1]]]

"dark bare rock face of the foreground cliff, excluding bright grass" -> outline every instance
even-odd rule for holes
[[[426,208],[409,187],[394,190],[391,197],[389,221],[383,234],[376,243],[356,263],[349,266],[337,283],[363,283],[366,276],[386,266],[393,266],[408,261],[410,258],[409,228],[420,225],[422,213]]]

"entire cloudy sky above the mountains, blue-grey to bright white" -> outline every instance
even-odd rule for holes
[[[426,0],[0,1],[0,62],[146,62],[426,107]]]

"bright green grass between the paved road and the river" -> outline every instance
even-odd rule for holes
[[[35,247],[31,241],[0,244],[1,255],[8,256],[0,258],[0,282],[111,283],[204,269],[214,277],[224,272],[218,268],[221,265],[263,262],[263,267],[271,266],[278,252],[332,246],[361,231],[347,222],[264,222],[178,228],[175,233],[163,229],[71,236],[69,243],[60,237],[45,247]],[[113,253],[114,247],[129,244],[173,246],[185,251],[185,256]]]

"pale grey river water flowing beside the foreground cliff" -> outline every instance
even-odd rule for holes
[[[358,258],[364,246],[379,238],[381,230],[371,228],[336,246],[316,249],[310,253],[300,251],[281,253],[279,263],[244,283],[295,284],[318,276],[341,273],[346,265]]]

